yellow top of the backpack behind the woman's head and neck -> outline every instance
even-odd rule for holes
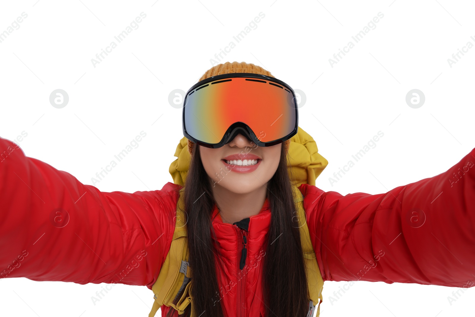
[[[178,157],[170,164],[169,172],[173,183],[183,186],[188,167],[190,153],[188,152],[188,139],[183,137],[177,146],[175,156]],[[288,165],[292,182],[298,187],[303,183],[315,185],[315,179],[322,173],[328,161],[318,153],[314,139],[301,127],[297,134],[290,139]]]

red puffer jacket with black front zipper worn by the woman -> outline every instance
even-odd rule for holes
[[[0,151],[2,278],[152,288],[170,248],[178,185],[100,192],[8,140],[0,138]],[[323,280],[473,286],[475,253],[466,250],[475,246],[474,162],[475,149],[444,173],[377,195],[301,185]],[[250,217],[247,261],[257,265],[240,282],[240,230],[213,221],[228,263],[218,280],[236,285],[216,298],[226,316],[264,315],[265,207]]]

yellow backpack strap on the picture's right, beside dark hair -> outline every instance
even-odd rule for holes
[[[315,306],[317,306],[316,317],[320,316],[320,304],[323,301],[323,279],[320,269],[318,268],[314,247],[310,240],[310,232],[307,226],[307,218],[304,210],[304,195],[300,190],[293,186],[294,202],[298,213],[298,225],[300,228],[300,240],[302,243],[302,251],[304,252],[305,273],[307,275],[307,285],[309,294],[309,311],[307,316],[313,316]],[[320,300],[319,300],[320,299]]]

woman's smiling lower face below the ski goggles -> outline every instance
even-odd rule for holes
[[[211,179],[211,187],[222,186],[235,193],[263,187],[276,173],[282,143],[257,146],[242,134],[228,144],[212,149],[199,147],[201,162]]]

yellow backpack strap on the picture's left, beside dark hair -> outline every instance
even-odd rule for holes
[[[184,213],[184,188],[180,189],[180,197],[177,203],[176,224],[173,232],[173,240],[171,241],[170,251],[167,254],[165,262],[160,269],[157,280],[152,286],[155,294],[153,297],[152,310],[149,317],[154,317],[158,309],[162,306],[171,306],[183,314],[185,308],[191,303],[191,268],[188,262],[188,243],[186,231],[186,217]],[[180,274],[181,273],[181,274]],[[173,300],[178,293],[185,288],[183,295],[177,304],[173,304]],[[191,312],[191,317],[194,317]]]

